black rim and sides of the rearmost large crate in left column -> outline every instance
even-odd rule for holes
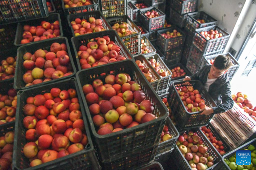
[[[28,45],[28,44],[37,43],[37,41],[36,41],[36,42],[29,42],[29,43],[26,43],[26,44],[20,44],[20,41],[23,40],[23,37],[22,37],[22,34],[24,32],[23,26],[25,26],[25,25],[39,26],[42,21],[47,21],[49,23],[53,23],[57,20],[59,21],[59,25],[60,25],[60,37],[62,37],[63,32],[62,32],[60,14],[54,13],[54,14],[49,14],[49,17],[47,17],[47,18],[41,18],[41,19],[37,19],[37,20],[31,20],[31,21],[28,21],[28,22],[18,23],[14,45],[21,46],[21,45]],[[52,38],[52,39],[55,39],[55,38]],[[49,39],[47,39],[47,40],[49,40]],[[45,42],[47,40],[40,40],[39,42]]]

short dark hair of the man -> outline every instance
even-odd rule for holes
[[[218,57],[215,58],[213,65],[218,70],[228,70],[232,66],[232,61],[230,56],[218,55]]]

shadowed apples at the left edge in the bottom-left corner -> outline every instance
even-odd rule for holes
[[[0,167],[1,170],[12,169],[14,132],[9,131],[0,136]]]

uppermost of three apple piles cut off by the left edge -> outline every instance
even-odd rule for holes
[[[16,57],[7,57],[1,61],[0,80],[10,79],[14,77],[16,67]]]

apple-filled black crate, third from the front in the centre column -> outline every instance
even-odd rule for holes
[[[101,11],[71,14],[67,16],[73,37],[111,29]]]

